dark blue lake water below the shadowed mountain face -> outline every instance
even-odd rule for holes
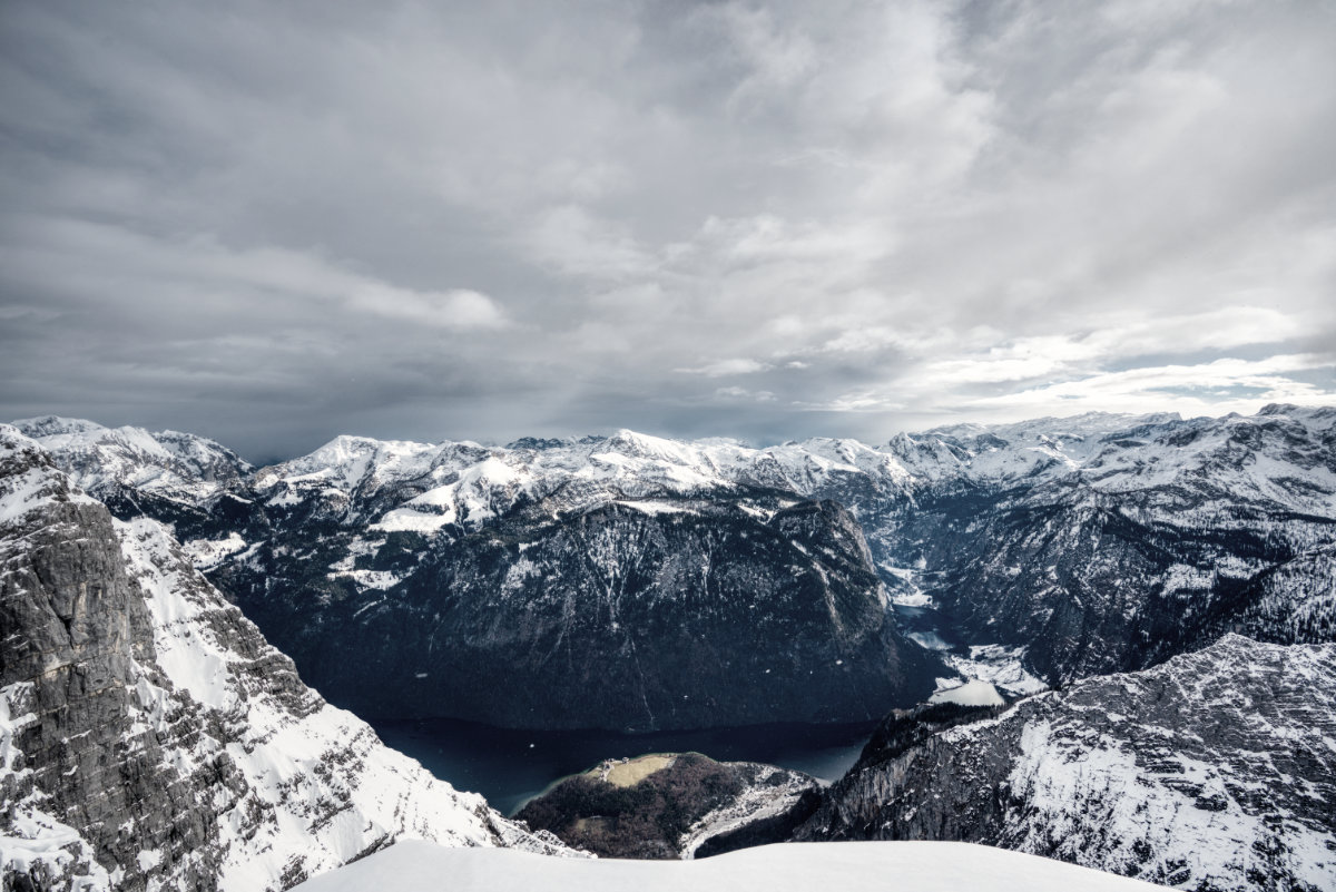
[[[876,722],[751,725],[623,734],[608,730],[514,730],[457,718],[373,721],[386,744],[422,762],[454,788],[482,793],[513,815],[553,781],[604,758],[697,752],[719,761],[751,761],[835,780],[856,760]]]

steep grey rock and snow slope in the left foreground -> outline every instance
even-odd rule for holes
[[[326,704],[162,525],[0,425],[4,888],[282,889],[405,837],[566,852]]]

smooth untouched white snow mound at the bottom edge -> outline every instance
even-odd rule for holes
[[[791,843],[703,861],[561,861],[401,843],[301,892],[1137,892],[1158,888],[966,843]]]

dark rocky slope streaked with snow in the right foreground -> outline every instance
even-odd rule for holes
[[[1185,889],[1336,885],[1336,645],[1226,636],[1002,709],[888,717],[804,840],[963,840]]]

